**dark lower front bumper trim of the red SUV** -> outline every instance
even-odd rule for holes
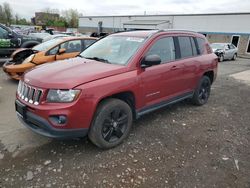
[[[16,100],[16,103],[20,102]],[[87,128],[80,129],[57,129],[54,128],[46,119],[30,112],[25,111],[25,115],[17,112],[21,123],[33,132],[50,138],[77,138],[84,137],[88,134]]]

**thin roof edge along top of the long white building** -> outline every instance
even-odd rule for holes
[[[203,13],[203,14],[148,14],[148,15],[109,15],[109,16],[80,16],[79,18],[100,18],[100,17],[133,17],[133,16],[223,16],[223,15],[250,15],[250,12],[225,12],[225,13]]]

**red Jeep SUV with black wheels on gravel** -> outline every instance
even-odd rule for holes
[[[83,137],[101,148],[120,144],[132,121],[190,98],[207,102],[217,56],[191,31],[109,35],[79,57],[40,66],[19,82],[16,111],[34,132]]]

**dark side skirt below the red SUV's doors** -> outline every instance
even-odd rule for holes
[[[150,113],[152,111],[155,111],[155,110],[158,110],[160,108],[166,107],[168,105],[180,102],[180,101],[182,101],[184,99],[192,98],[193,94],[194,94],[194,92],[191,91],[191,92],[179,95],[177,97],[173,97],[172,99],[162,101],[160,103],[153,104],[153,105],[150,105],[150,106],[146,106],[146,107],[144,107],[144,108],[142,108],[140,110],[136,110],[136,119],[138,119],[139,117],[141,117],[141,116],[143,116],[143,115],[145,115],[147,113]]]

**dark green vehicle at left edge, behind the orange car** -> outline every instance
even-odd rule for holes
[[[41,42],[40,38],[18,34],[0,24],[0,58],[10,57],[17,48],[32,48]]]

